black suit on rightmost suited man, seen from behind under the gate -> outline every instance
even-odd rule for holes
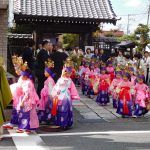
[[[56,73],[56,76],[54,78],[55,82],[60,78],[61,72],[63,69],[64,61],[68,55],[64,52],[56,51],[50,55],[50,58],[54,61],[54,72]]]

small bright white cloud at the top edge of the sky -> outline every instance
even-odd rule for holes
[[[142,4],[142,0],[124,0],[127,7],[139,7]]]

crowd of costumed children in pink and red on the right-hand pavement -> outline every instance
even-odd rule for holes
[[[92,99],[96,97],[98,105],[112,103],[123,118],[137,118],[148,112],[150,91],[141,66],[135,68],[126,63],[114,67],[111,58],[106,63],[84,58],[78,75],[82,94]]]

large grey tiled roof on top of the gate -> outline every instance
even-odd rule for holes
[[[14,14],[116,20],[110,0],[14,0]]]

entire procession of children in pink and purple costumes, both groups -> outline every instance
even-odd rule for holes
[[[75,85],[81,87],[83,95],[95,98],[100,106],[112,103],[123,118],[141,117],[149,110],[150,91],[141,66],[135,68],[127,63],[114,67],[111,58],[106,63],[83,58],[79,69],[75,70],[73,61],[67,58],[62,75],[55,83],[54,62],[48,59],[44,72],[47,79],[39,98],[27,62],[17,56],[13,56],[12,61],[18,81],[10,85],[13,110],[4,129],[17,126],[17,133],[31,133],[39,128],[39,123],[51,121],[58,128],[68,129],[73,124],[72,101],[80,100]]]

